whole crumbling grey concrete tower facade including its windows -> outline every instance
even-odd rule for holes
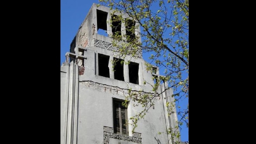
[[[136,58],[127,55],[124,61],[130,60],[129,65],[117,63],[113,70],[111,60],[118,60],[118,48],[108,36],[98,34],[99,29],[113,33],[107,22],[110,18],[108,7],[93,4],[60,67],[60,144],[172,144],[170,135],[158,134],[174,128],[177,120],[176,114],[167,116],[166,102],[173,101],[172,89],[163,92],[167,84],[159,86],[159,93],[163,93],[134,133],[131,124],[125,125],[142,110],[133,107],[133,101],[128,108],[122,106],[128,88],[152,92],[150,84],[154,81],[141,50]],[[125,25],[120,23],[116,30],[125,32]],[[140,28],[134,32],[137,36],[138,31]],[[159,71],[153,75],[159,76]],[[143,84],[144,80],[149,84]]]

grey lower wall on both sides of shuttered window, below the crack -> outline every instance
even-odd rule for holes
[[[103,144],[103,126],[114,127],[113,98],[124,100],[124,92],[116,86],[119,87],[119,85],[109,86],[90,81],[79,83],[78,144]],[[131,102],[127,108],[128,118],[142,110],[141,107],[133,107],[132,104]],[[155,109],[151,109],[145,119],[138,123],[135,132],[142,134],[142,143],[167,143],[165,134],[158,135],[158,132],[164,132],[166,129],[162,106],[161,100],[157,100]],[[132,136],[131,125],[129,136]]]

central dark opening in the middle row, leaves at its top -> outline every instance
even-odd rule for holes
[[[122,59],[114,58],[116,65],[114,67],[114,78],[120,81],[124,81],[124,65],[121,64]]]

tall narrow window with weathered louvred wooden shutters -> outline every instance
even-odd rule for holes
[[[127,108],[122,106],[122,101],[113,99],[113,111],[114,111],[114,133],[128,135],[128,126],[126,120]]]

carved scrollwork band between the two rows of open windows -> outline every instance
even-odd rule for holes
[[[118,47],[114,47],[111,43],[108,43],[108,42],[105,42],[105,41],[101,41],[101,40],[98,40],[98,39],[93,39],[93,44],[94,44],[94,46],[100,47],[102,49],[119,52]],[[136,52],[135,56],[142,59],[142,50],[139,49]]]

